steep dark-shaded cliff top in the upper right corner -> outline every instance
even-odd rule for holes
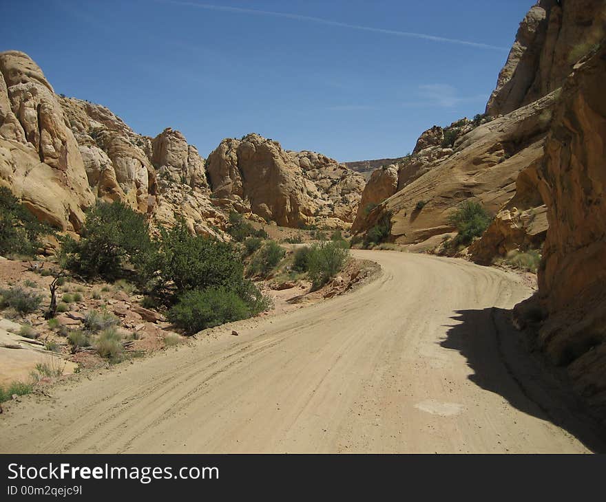
[[[604,36],[603,0],[540,0],[520,24],[486,113],[510,113],[561,87]]]

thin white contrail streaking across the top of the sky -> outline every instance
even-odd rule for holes
[[[351,30],[360,30],[365,32],[373,32],[373,33],[382,33],[386,35],[395,35],[395,36],[407,36],[409,38],[414,39],[423,39],[432,42],[442,42],[442,43],[452,43],[457,45],[467,45],[468,47],[476,47],[479,49],[490,49],[490,50],[498,50],[498,51],[508,51],[506,47],[498,47],[497,45],[490,45],[488,43],[479,43],[479,42],[470,42],[466,40],[459,39],[448,39],[445,36],[435,36],[429,35],[425,33],[415,33],[415,32],[401,32],[399,30],[386,30],[384,28],[374,28],[372,26],[363,26],[356,25],[350,23],[341,23],[339,21],[331,21],[330,19],[323,19],[321,17],[312,17],[312,16],[302,16],[300,14],[289,14],[287,12],[274,12],[272,10],[258,10],[258,9],[247,9],[241,7],[228,7],[228,6],[216,6],[211,3],[198,3],[191,1],[181,1],[181,0],[156,0],[160,3],[171,3],[178,6],[184,7],[195,7],[205,10],[218,10],[222,12],[234,12],[237,14],[253,14],[256,16],[271,16],[271,17],[282,17],[286,19],[294,19],[295,21],[304,21],[307,23],[317,23],[328,26],[338,26],[340,28],[350,28]]]

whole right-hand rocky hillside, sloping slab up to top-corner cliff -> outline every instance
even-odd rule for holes
[[[412,155],[397,164],[397,191],[384,201],[363,194],[379,207],[359,212],[353,228],[364,232],[388,215],[391,241],[431,249],[453,230],[452,209],[473,198],[496,215],[481,242],[470,248],[476,261],[539,248],[547,231],[547,208],[537,187],[545,138],[565,77],[604,36],[605,12],[604,3],[595,0],[533,6],[499,74],[487,115],[424,132]],[[370,182],[366,190],[377,193]]]

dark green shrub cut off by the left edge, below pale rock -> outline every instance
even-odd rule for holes
[[[40,248],[39,237],[52,229],[30,213],[5,186],[0,187],[0,254],[31,257]]]

